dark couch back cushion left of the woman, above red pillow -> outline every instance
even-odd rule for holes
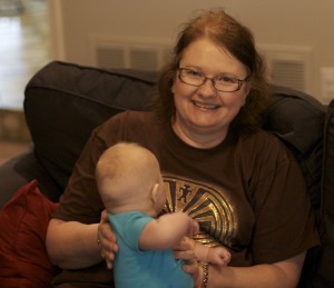
[[[59,61],[32,77],[24,91],[26,119],[52,190],[62,192],[94,128],[126,109],[148,109],[156,77]]]

